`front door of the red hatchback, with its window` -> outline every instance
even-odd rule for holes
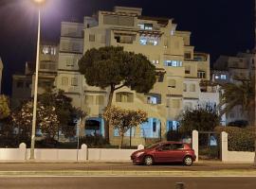
[[[159,146],[155,150],[155,162],[170,162],[171,144]]]

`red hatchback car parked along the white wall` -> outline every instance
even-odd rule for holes
[[[189,144],[181,142],[161,142],[148,146],[145,149],[137,150],[131,155],[133,163],[173,163],[182,162],[185,165],[192,165],[196,156]]]

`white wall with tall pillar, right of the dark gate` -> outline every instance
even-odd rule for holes
[[[221,133],[222,162],[226,163],[253,163],[254,152],[247,151],[229,151],[228,149],[228,133]]]

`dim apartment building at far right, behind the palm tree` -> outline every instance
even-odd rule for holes
[[[213,65],[212,78],[219,84],[235,83],[255,77],[255,52],[238,53],[236,56],[220,56]],[[227,114],[227,124],[237,120],[247,120],[241,106],[236,106]]]

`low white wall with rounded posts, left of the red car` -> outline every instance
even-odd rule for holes
[[[144,146],[139,145],[137,149]],[[87,148],[82,145],[81,149],[35,149],[35,161],[56,162],[86,162],[86,161],[130,161],[131,154],[137,149],[106,149]],[[0,148],[0,161],[27,161],[30,149],[25,144],[19,148]]]

